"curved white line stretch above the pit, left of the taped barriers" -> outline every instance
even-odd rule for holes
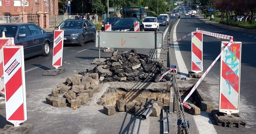
[[[174,29],[173,29],[173,40],[174,41],[177,40],[176,28],[177,28],[179,21],[180,21],[180,19],[178,19],[178,22],[176,23],[176,25],[174,26]],[[183,58],[182,58],[179,44],[178,44],[178,42],[175,42],[173,45],[174,45],[174,52],[176,55],[176,60],[177,60],[177,64],[179,67],[180,74],[187,77],[187,75],[189,74],[189,71],[185,65]]]

